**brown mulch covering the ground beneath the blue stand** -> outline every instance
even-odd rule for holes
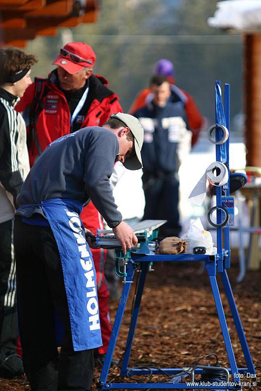
[[[216,353],[221,366],[229,367],[225,345],[216,314],[212,290],[207,273],[201,273],[198,263],[161,263],[153,265],[154,272],[148,273],[140,316],[132,346],[129,367],[150,365],[159,368],[190,367],[197,359],[209,353]],[[259,377],[261,360],[261,274],[248,271],[241,283],[236,283],[238,264],[234,260],[228,269],[237,309],[243,324],[247,342]],[[136,273],[137,275],[137,273]],[[227,323],[233,343],[237,366],[246,367],[236,329],[226,301],[221,281],[218,278],[221,299],[227,314]],[[123,317],[114,359],[120,360],[130,324],[131,304],[135,282]],[[111,302],[111,317],[117,311],[118,302]],[[214,357],[200,364],[214,364]],[[112,367],[113,369],[113,367]],[[99,379],[100,368],[95,368],[95,383]],[[128,382],[119,378],[115,368],[109,379],[115,382]],[[162,381],[163,377],[153,376],[147,381]],[[250,381],[244,379],[243,381]],[[253,381],[256,381],[253,379]],[[22,378],[1,379],[0,391],[29,391],[28,383],[22,385]],[[244,391],[261,390],[261,383]]]

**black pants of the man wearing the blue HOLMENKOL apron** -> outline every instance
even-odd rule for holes
[[[17,217],[14,244],[23,362],[32,391],[90,390],[94,349],[73,350],[62,265],[51,229]],[[55,312],[65,327],[58,376]]]

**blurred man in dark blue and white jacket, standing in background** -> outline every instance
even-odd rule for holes
[[[173,103],[171,86],[165,75],[150,81],[152,100],[136,111],[144,129],[142,147],[143,219],[167,220],[160,236],[179,236],[179,178],[182,159],[190,152],[191,132],[182,102]]]

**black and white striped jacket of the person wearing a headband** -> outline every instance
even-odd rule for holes
[[[26,128],[14,109],[18,97],[0,88],[0,223],[11,220],[29,172]]]

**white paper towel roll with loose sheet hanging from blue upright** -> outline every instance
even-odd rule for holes
[[[206,169],[205,174],[200,178],[190,193],[189,200],[201,206],[206,197],[207,180],[214,186],[223,186],[228,182],[228,169],[224,163],[214,161]]]

